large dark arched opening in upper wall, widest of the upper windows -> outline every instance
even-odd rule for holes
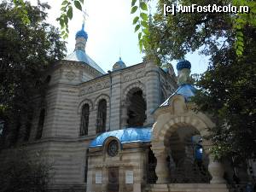
[[[147,119],[146,112],[146,102],[143,99],[143,91],[138,90],[133,93],[130,98],[130,106],[128,107],[128,126],[143,126],[143,123]]]

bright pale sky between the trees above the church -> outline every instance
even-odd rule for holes
[[[36,0],[30,0],[36,4]],[[55,20],[60,16],[61,0],[46,1],[51,6],[48,13],[50,24],[60,27]],[[85,0],[83,9],[89,15],[85,20],[85,31],[88,40],[85,51],[96,63],[107,72],[121,56],[125,65],[131,66],[143,61],[143,54],[138,47],[137,33],[134,32],[131,15],[131,0]],[[154,10],[154,6],[152,5]],[[83,23],[83,13],[75,9],[73,20],[69,21],[69,37],[67,41],[67,55],[71,54],[75,45],[75,34]],[[207,58],[197,53],[186,55],[185,59],[192,64],[191,73],[203,73],[207,70]],[[172,61],[176,71],[177,61]],[[177,71],[176,71],[177,72]]]

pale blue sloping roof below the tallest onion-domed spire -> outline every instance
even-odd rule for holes
[[[84,50],[82,49],[75,49],[73,51],[72,54],[70,55],[67,55],[64,60],[67,60],[67,61],[82,61],[88,65],[90,65],[90,67],[93,67],[95,68],[98,72],[102,73],[102,74],[105,74],[105,72],[102,70],[101,67],[99,67],[95,61],[93,61],[89,55],[87,55],[85,53]]]

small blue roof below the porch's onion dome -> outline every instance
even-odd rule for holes
[[[195,96],[195,91],[196,88],[193,84],[181,84],[177,90],[172,94],[172,96],[174,95],[181,95],[185,97],[185,102],[189,102],[190,101],[190,97],[191,96]],[[164,107],[168,105],[169,99],[172,97],[169,96],[165,102],[163,102],[160,107]]]

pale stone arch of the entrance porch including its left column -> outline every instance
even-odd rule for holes
[[[152,134],[152,150],[157,158],[156,174],[158,176],[157,183],[169,183],[170,182],[170,173],[167,169],[168,164],[166,158],[170,152],[170,137],[174,134],[178,128],[185,127],[186,129],[193,129],[198,131],[201,137],[207,137],[210,135],[208,128],[212,127],[212,121],[206,116],[201,115],[200,113],[187,112],[179,115],[175,115],[170,119],[166,119],[166,122],[161,123],[156,121],[153,126]],[[212,165],[212,160],[210,160],[210,151],[211,141],[206,138],[203,139],[202,148],[206,154],[207,160],[209,160],[208,166]],[[210,171],[209,171],[210,172]],[[212,174],[212,172],[210,172]],[[212,176],[214,177],[214,176]]]

